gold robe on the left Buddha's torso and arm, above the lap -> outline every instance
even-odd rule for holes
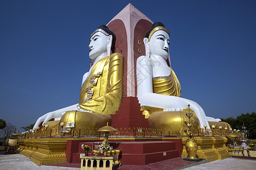
[[[123,56],[101,58],[82,84],[79,106],[93,113],[115,114],[123,95]]]

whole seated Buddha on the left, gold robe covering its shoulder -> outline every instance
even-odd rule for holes
[[[111,123],[110,114],[118,110],[123,94],[123,56],[113,53],[114,46],[115,34],[106,25],[98,27],[90,36],[93,65],[82,78],[79,104],[44,114],[34,127],[52,118],[65,128],[98,129]]]

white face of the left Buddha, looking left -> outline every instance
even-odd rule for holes
[[[102,32],[96,32],[90,38],[89,44],[89,57],[90,59],[96,59],[102,53],[108,51],[108,36]]]

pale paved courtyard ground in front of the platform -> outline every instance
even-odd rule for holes
[[[130,169],[129,167],[120,169]],[[251,159],[238,159],[238,158],[226,158],[223,160],[215,160],[213,162],[194,165],[193,167],[188,167],[185,169],[255,169],[256,160]],[[141,167],[140,169],[145,169],[146,167]],[[0,169],[1,170],[9,170],[9,169],[17,169],[17,170],[54,170],[54,169],[80,169],[80,168],[71,168],[71,167],[53,167],[42,165],[39,167],[30,161],[26,156],[15,154],[15,155],[0,155]],[[134,168],[132,168],[135,170]],[[146,168],[148,169],[148,168]],[[152,170],[159,168],[151,168]],[[173,168],[164,168],[164,169],[173,169]]]

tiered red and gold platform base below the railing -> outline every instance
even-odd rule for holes
[[[147,165],[172,158],[186,158],[185,141],[187,137],[177,138],[109,138],[114,150],[122,150],[123,165]],[[54,163],[80,163],[84,154],[82,144],[95,149],[104,138],[31,138],[20,139],[20,154],[29,156],[37,165]],[[212,162],[229,158],[225,137],[195,137],[199,158]],[[94,146],[93,146],[94,145]],[[89,151],[89,155],[92,149]]]

